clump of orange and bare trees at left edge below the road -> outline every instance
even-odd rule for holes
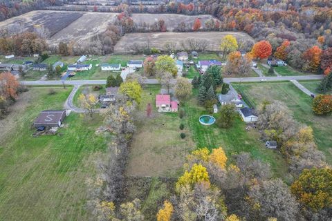
[[[19,93],[26,90],[27,88],[21,86],[11,73],[0,73],[0,119],[8,115],[9,108],[16,102]]]

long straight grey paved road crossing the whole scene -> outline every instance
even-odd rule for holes
[[[322,79],[323,75],[301,75],[301,76],[279,76],[279,77],[264,77],[267,81],[291,81],[291,80],[317,80]],[[174,81],[176,81],[174,79]],[[191,79],[190,79],[191,81]],[[257,82],[261,81],[261,77],[243,77],[243,78],[224,78],[223,81],[232,82]],[[68,81],[21,81],[24,85],[73,85],[79,86],[84,84],[106,84],[106,80],[68,80]],[[157,79],[147,79],[145,84],[159,84]]]

